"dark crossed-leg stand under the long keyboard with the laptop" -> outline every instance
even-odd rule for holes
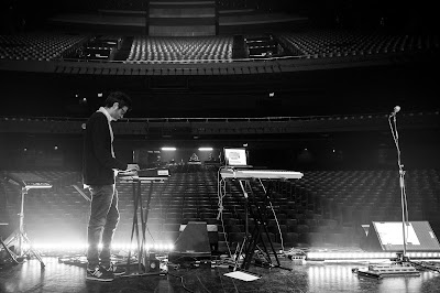
[[[252,181],[255,181],[255,180],[252,180]],[[271,204],[271,206],[272,206],[271,198],[270,198],[270,194],[271,194],[271,189],[272,189],[272,181],[270,181],[267,189],[265,189],[263,202],[257,200],[258,198],[256,198],[256,196],[252,189],[252,186],[251,186],[251,180],[244,180],[244,186],[243,186],[242,182],[240,181],[240,186],[242,187],[245,199],[246,199],[246,209],[250,211],[250,215],[254,220],[254,228],[253,228],[252,234],[249,235],[246,232],[244,240],[243,240],[245,257],[241,264],[241,269],[249,270],[252,258],[254,257],[254,253],[255,253],[255,249],[258,249],[261,254],[263,254],[263,258],[265,259],[264,263],[263,262],[260,263],[261,267],[279,268],[279,269],[292,271],[292,269],[284,268],[280,265],[278,256],[274,248],[274,243],[272,242],[272,239],[271,239],[271,237],[268,235],[268,230],[267,230],[266,206],[268,204]],[[249,188],[251,196],[248,196],[246,187]],[[248,220],[248,213],[246,213],[246,220]],[[248,223],[246,223],[246,225],[248,225]],[[246,231],[248,231],[248,228],[246,228]],[[276,260],[276,264],[274,264],[272,262],[270,251],[268,251],[266,243],[264,242],[264,239],[262,237],[263,232],[266,236],[266,239],[271,246],[272,253],[274,254],[275,260]],[[258,247],[258,243],[262,245],[263,250]]]

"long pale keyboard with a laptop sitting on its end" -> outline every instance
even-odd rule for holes
[[[304,176],[301,172],[287,170],[221,170],[222,178],[262,178],[262,180],[299,180]]]

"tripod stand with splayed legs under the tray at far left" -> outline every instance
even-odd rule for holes
[[[38,251],[32,248],[31,240],[29,240],[26,234],[24,232],[24,196],[28,194],[28,191],[31,187],[29,186],[23,186],[21,187],[21,207],[20,207],[20,221],[19,221],[19,228],[15,229],[6,240],[2,245],[4,245],[6,248],[8,248],[8,251],[12,259],[20,263],[20,259],[24,259],[24,256],[26,256],[28,259],[31,258],[31,254],[34,254],[35,258],[40,261],[41,268],[43,269],[45,267],[41,254]],[[25,250],[24,245],[28,245],[29,248]],[[15,252],[11,251],[9,247],[14,246]]]

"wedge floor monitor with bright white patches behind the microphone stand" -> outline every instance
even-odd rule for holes
[[[406,250],[440,252],[437,239],[428,221],[405,224]],[[404,226],[402,221],[372,221],[361,248],[365,251],[403,251]]]

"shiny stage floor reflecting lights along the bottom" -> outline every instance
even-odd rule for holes
[[[241,281],[224,273],[229,268],[169,268],[163,275],[118,278],[112,282],[86,281],[86,269],[58,257],[31,259],[22,264],[0,265],[0,292],[439,292],[440,273],[421,271],[420,276],[361,278],[352,270],[366,263],[309,262],[295,264],[282,258],[280,268],[251,264],[260,274],[255,281]],[[133,270],[131,270],[133,271]]]

